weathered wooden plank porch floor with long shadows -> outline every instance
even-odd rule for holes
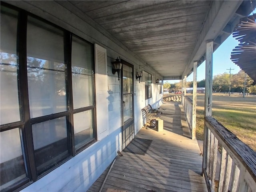
[[[121,152],[102,192],[206,192],[202,156],[196,140],[189,138],[181,104],[162,104],[164,131],[142,128],[138,138],[153,140],[145,155]],[[183,121],[183,122],[182,122]],[[109,168],[108,168],[109,169]],[[98,192],[108,169],[88,192]]]

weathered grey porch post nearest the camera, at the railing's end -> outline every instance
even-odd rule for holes
[[[204,118],[212,116],[212,53],[213,40],[206,41],[206,66],[205,66],[205,93],[204,93]],[[204,120],[204,151],[202,170],[207,166],[208,155],[208,128]],[[203,172],[203,171],[202,171]]]

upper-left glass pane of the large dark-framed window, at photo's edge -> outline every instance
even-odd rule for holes
[[[18,12],[1,6],[0,21],[0,124],[20,121],[17,80]]]

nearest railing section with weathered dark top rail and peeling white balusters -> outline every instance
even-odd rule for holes
[[[205,119],[203,169],[209,192],[256,192],[256,152],[212,117]]]

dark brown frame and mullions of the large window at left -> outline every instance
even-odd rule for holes
[[[22,190],[26,186],[32,184],[36,180],[42,178],[52,170],[56,169],[61,164],[64,164],[78,153],[82,152],[84,149],[88,148],[90,145],[94,144],[97,141],[97,126],[96,126],[96,89],[95,89],[95,74],[92,74],[92,89],[93,89],[93,97],[94,102],[92,106],[86,106],[78,109],[73,108],[73,96],[72,96],[72,37],[80,38],[79,36],[73,34],[53,24],[39,16],[31,14],[25,10],[17,8],[15,6],[9,5],[5,2],[1,2],[1,7],[6,7],[18,12],[18,26],[17,26],[17,38],[16,38],[16,49],[17,49],[17,79],[18,79],[18,99],[20,106],[20,121],[11,122],[8,124],[0,125],[0,132],[4,132],[7,130],[12,130],[14,128],[19,128],[20,130],[20,139],[21,139],[21,147],[22,154],[24,156],[24,163],[26,169],[26,178],[19,180],[18,182],[12,184],[11,186],[2,189],[5,191],[14,191],[14,190]],[[30,108],[29,108],[29,98],[28,98],[28,74],[27,74],[27,22],[28,16],[38,19],[46,24],[50,24],[51,26],[58,28],[63,31],[63,41],[64,41],[64,64],[66,64],[65,69],[65,84],[66,84],[66,111],[58,112],[55,114],[48,114],[45,116],[39,116],[36,118],[30,117]],[[95,71],[95,59],[94,59],[94,44],[80,38],[82,41],[91,45],[92,52],[92,62],[93,68]],[[87,110],[92,110],[93,116],[93,139],[75,150],[75,142],[74,142],[74,114],[78,112],[84,112]],[[32,124],[46,122],[48,120],[53,120],[59,117],[66,117],[66,127],[67,127],[67,139],[68,139],[68,156],[59,162],[58,164],[54,164],[54,166],[50,166],[46,171],[42,174],[37,173],[36,162],[34,156],[34,145],[33,145],[33,135],[32,135]]]

